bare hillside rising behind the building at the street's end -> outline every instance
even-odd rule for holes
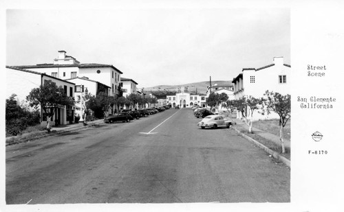
[[[158,85],[158,86],[153,86],[150,88],[144,88],[144,91],[146,91],[147,93],[149,93],[150,91],[152,92],[154,91],[177,92],[178,89],[184,86],[185,88],[189,89],[189,92],[191,93],[196,93],[197,91],[198,94],[205,94],[207,86],[209,86],[209,84],[210,84],[209,81],[205,81],[205,82],[193,82],[189,84],[180,84],[180,85]],[[215,80],[215,81],[212,81],[211,84],[222,85],[222,84],[232,84],[232,82],[224,81],[224,80]]]

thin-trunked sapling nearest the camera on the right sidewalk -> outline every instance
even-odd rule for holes
[[[279,115],[279,140],[282,145],[282,153],[284,153],[286,150],[284,148],[283,130],[287,121],[291,117],[290,95],[281,95],[280,93],[275,93],[273,91],[266,91],[264,95],[266,96],[266,99],[264,99],[264,110],[266,110],[268,114],[273,111]]]

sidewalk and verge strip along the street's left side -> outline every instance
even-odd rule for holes
[[[33,140],[41,139],[44,137],[50,137],[50,136],[53,136],[55,134],[60,134],[63,132],[73,132],[73,131],[77,131],[77,130],[82,130],[84,128],[96,126],[96,125],[103,123],[103,122],[104,122],[103,119],[99,119],[96,121],[87,121],[87,126],[84,126],[83,122],[74,123],[74,124],[65,125],[65,126],[58,126],[58,127],[53,126],[52,131],[50,133],[48,133],[46,130],[43,130],[43,131],[38,131],[38,132],[29,132],[29,133],[21,134],[21,135],[18,135],[16,137],[7,137],[6,138],[6,146],[14,145],[14,144],[18,144],[18,143],[23,143],[26,141],[33,141]]]

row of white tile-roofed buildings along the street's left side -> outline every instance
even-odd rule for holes
[[[135,80],[122,78],[121,75],[122,71],[111,64],[80,63],[62,50],[58,51],[58,57],[52,63],[6,66],[6,95],[10,97],[16,94],[19,104],[28,104],[25,98],[30,91],[50,80],[62,86],[68,96],[81,100],[75,105],[49,108],[56,111],[50,121],[67,124],[74,122],[75,115],[82,119],[82,96],[85,92],[92,95],[104,92],[111,96],[126,96],[130,93],[144,95],[137,88]],[[111,108],[109,113],[114,113],[114,110],[116,108]],[[46,121],[45,115],[41,117],[42,121]]]

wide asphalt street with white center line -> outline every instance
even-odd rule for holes
[[[290,169],[173,108],[6,148],[6,203],[290,202]]]

